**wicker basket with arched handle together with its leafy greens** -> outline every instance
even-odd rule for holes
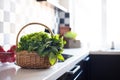
[[[24,35],[18,42],[20,32],[29,25],[42,25],[47,28],[50,34],[46,32],[35,32]],[[59,35],[54,35],[52,31],[44,24],[29,23],[25,25],[18,33],[16,39],[17,54],[16,62],[23,68],[49,68],[57,60],[64,61],[61,55],[65,41]]]

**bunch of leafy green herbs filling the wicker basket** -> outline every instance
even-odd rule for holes
[[[20,38],[17,51],[27,50],[43,57],[47,56],[50,64],[54,65],[57,60],[64,61],[61,54],[65,43],[63,37],[58,34],[51,36],[46,32],[35,32]]]

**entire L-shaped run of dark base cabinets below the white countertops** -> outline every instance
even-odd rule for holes
[[[77,65],[74,75],[65,73],[58,80],[120,80],[120,55],[90,54]]]

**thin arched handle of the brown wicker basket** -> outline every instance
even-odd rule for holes
[[[21,31],[22,31],[24,28],[26,28],[27,26],[33,25],[33,24],[44,26],[46,29],[48,29],[48,31],[50,32],[51,36],[54,35],[53,32],[51,31],[51,29],[50,29],[49,27],[47,27],[46,25],[42,24],[42,23],[37,23],[37,22],[28,23],[28,24],[26,24],[25,26],[23,26],[23,27],[20,29],[20,31],[18,32],[17,37],[16,37],[16,46],[18,46],[18,38],[19,38],[19,35],[20,35]]]

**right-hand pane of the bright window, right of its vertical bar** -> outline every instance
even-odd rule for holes
[[[107,43],[120,49],[120,0],[107,0]]]

